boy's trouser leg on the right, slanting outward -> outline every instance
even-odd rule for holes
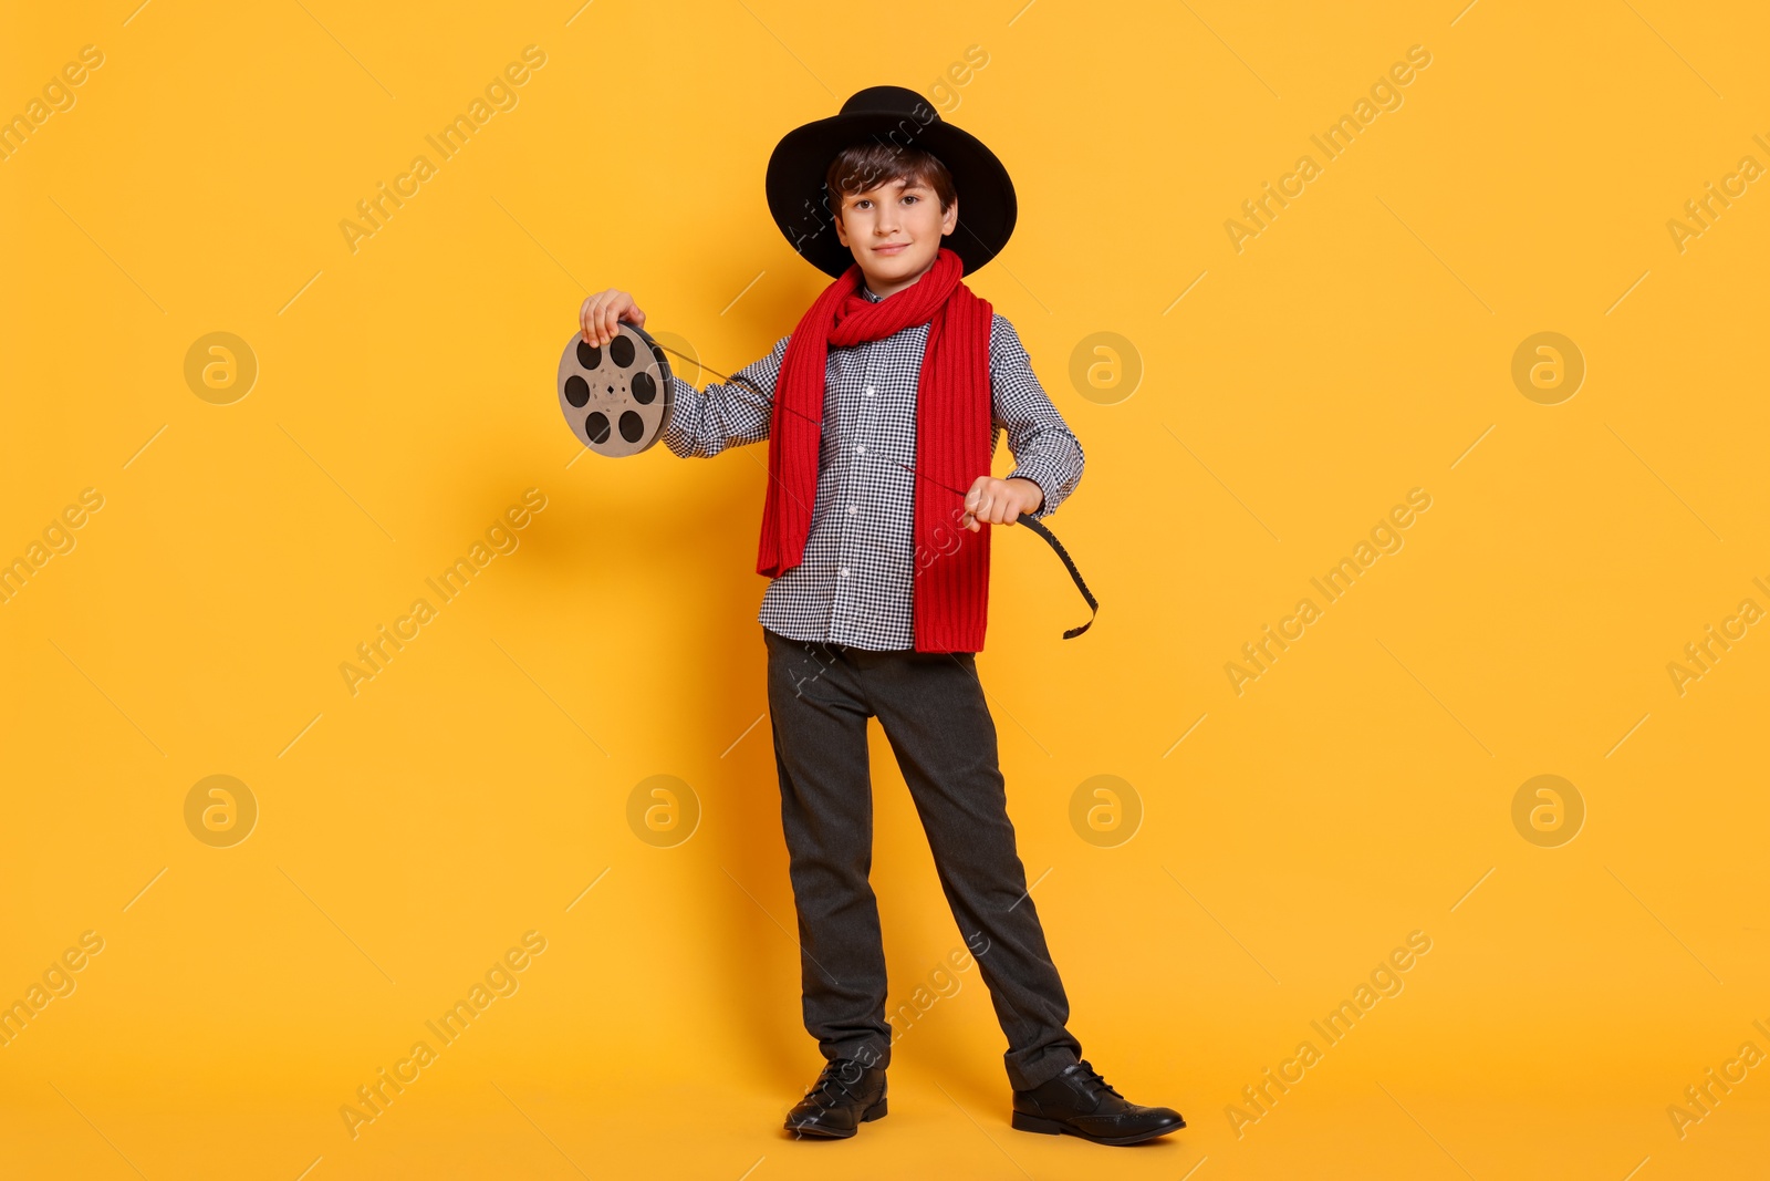
[[[1069,999],[1027,892],[995,721],[972,653],[857,653],[867,699],[922,816],[940,885],[1007,1034],[1009,1082],[1030,1091],[1080,1061]],[[975,938],[982,935],[988,944]],[[982,951],[979,951],[982,949]]]

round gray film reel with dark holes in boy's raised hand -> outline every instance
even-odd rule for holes
[[[669,421],[669,361],[643,328],[618,324],[596,347],[572,333],[559,354],[559,409],[579,443],[596,455],[625,459],[658,441]]]

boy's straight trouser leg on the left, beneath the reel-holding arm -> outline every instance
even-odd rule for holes
[[[825,1059],[890,1064],[873,869],[871,710],[841,650],[763,629],[805,1029]]]

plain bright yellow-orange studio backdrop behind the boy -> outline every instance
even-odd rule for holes
[[[103,53],[0,159],[0,560],[103,498],[0,604],[0,1000],[103,940],[0,1046],[9,1172],[1761,1167],[1761,1068],[1683,1137],[1667,1115],[1770,1052],[1770,637],[1667,673],[1770,606],[1770,195],[1667,228],[1770,165],[1761,11],[133,4],[0,41],[0,115]],[[524,46],[515,104],[352,250],[340,221]],[[1328,159],[1310,136],[1411,46],[1400,106]],[[887,81],[1012,170],[974,289],[1089,455],[1051,526],[1099,621],[1062,641],[1060,565],[998,538],[979,668],[1071,1027],[1191,1124],[1138,1149],[1009,1130],[881,740],[892,1007],[949,995],[901,1030],[889,1119],[781,1131],[821,1062],[763,719],[765,453],[573,462],[552,391],[593,289],[722,372],[789,331],[825,280],[768,220],[768,151]],[[1225,223],[1303,154],[1320,174],[1237,251]],[[218,331],[244,397],[186,381]],[[1513,382],[1543,331],[1584,359],[1572,397]],[[1078,382],[1094,333],[1124,343]],[[515,547],[352,696],[338,666],[527,489]],[[1405,545],[1237,694],[1225,664],[1411,489]],[[188,823],[209,776],[255,804],[244,841]],[[680,843],[628,820],[653,776],[687,784]],[[1135,830],[1089,827],[1096,776]],[[1515,825],[1536,776],[1572,784],[1572,841]],[[515,992],[352,1139],[340,1107],[527,931]],[[1237,1128],[1411,931],[1402,992]]]

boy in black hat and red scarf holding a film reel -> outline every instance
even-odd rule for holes
[[[977,680],[984,526],[1050,515],[1083,466],[1012,324],[959,282],[1014,228],[1007,170],[913,90],[873,87],[781,140],[768,204],[835,282],[742,382],[699,391],[676,379],[664,441],[683,459],[770,443],[758,572],[773,581],[758,621],[804,1018],[827,1059],[786,1128],[837,1139],[885,1115],[892,1030],[867,884],[867,717],[892,744],[1007,1034],[1012,1126],[1096,1144],[1184,1128],[1172,1108],[1127,1103],[1064,1027],[1069,1004],[1014,848]],[[607,343],[623,319],[644,324],[632,296],[591,296],[584,340]],[[997,480],[1004,428],[1016,467]]]

